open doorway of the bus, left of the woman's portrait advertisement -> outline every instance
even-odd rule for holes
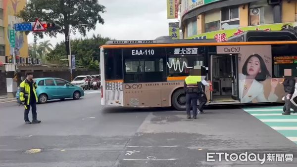
[[[211,55],[209,67],[213,85],[211,102],[238,102],[238,55]]]

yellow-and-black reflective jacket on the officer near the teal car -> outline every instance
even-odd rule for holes
[[[37,84],[33,83],[33,92],[36,98],[36,101],[38,101],[37,94],[36,94],[36,89],[37,89]],[[29,85],[29,81],[26,79],[20,84],[20,101],[25,101],[27,102],[27,105],[30,104],[30,97],[31,97],[31,89]]]

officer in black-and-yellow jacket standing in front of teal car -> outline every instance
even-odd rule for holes
[[[37,120],[36,102],[38,101],[36,88],[37,84],[33,80],[33,74],[28,72],[27,78],[20,84],[20,101],[24,103],[25,114],[24,119],[26,124],[38,124],[41,121]],[[32,123],[29,121],[30,106],[32,107]]]

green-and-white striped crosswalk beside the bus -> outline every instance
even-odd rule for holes
[[[243,110],[297,144],[297,113],[282,115],[283,106],[243,108]]]

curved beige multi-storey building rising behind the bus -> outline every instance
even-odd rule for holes
[[[297,0],[180,0],[183,39],[227,42],[248,30],[297,26]]]

